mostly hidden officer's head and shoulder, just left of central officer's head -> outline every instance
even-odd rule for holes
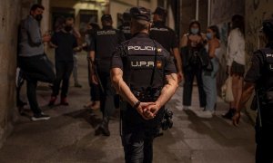
[[[118,27],[118,29],[123,32],[126,40],[129,40],[132,38],[132,34],[130,30],[131,16],[129,11],[124,12],[124,14],[122,14],[122,18],[123,18],[123,23],[122,25]]]

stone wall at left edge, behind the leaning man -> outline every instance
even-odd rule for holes
[[[0,148],[11,133],[16,119],[17,29],[21,16],[28,14],[30,5],[27,0],[2,0],[0,5]]]

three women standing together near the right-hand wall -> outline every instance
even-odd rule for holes
[[[227,40],[227,75],[232,77],[234,101],[224,118],[233,117],[242,94],[245,73],[246,52],[244,39],[244,18],[232,17],[231,31]],[[201,33],[197,21],[189,24],[188,33],[180,42],[184,72],[183,105],[184,110],[191,106],[193,82],[196,77],[201,111],[198,116],[211,118],[217,108],[217,72],[219,70],[220,34],[216,25],[207,27],[207,33]],[[208,56],[208,60],[207,60]]]

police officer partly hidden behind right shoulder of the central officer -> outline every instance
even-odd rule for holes
[[[183,72],[177,34],[166,25],[167,10],[162,7],[157,7],[153,14],[153,25],[149,34],[150,38],[160,43],[167,52],[171,53],[175,57],[177,64],[177,77],[178,81],[181,82],[183,80]]]

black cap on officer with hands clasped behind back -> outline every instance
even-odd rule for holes
[[[130,9],[131,18],[136,20],[151,21],[151,12],[145,7],[132,7]]]

